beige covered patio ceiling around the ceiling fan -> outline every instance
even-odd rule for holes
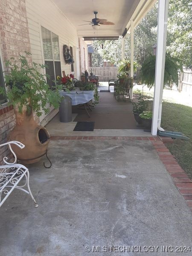
[[[157,0],[53,0],[68,20],[76,27],[78,36],[119,36],[125,28],[129,30],[130,20],[134,27],[151,9]],[[98,12],[97,17],[115,23],[114,25],[101,25],[94,30],[83,20],[91,21]]]

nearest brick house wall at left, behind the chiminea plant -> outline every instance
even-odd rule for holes
[[[0,0],[0,51],[3,71],[5,60],[19,58],[24,52],[30,52],[28,23],[25,0]],[[28,61],[32,62],[29,57]],[[35,117],[38,121],[38,118]],[[0,106],[0,144],[7,140],[7,134],[15,125],[15,114],[11,106]],[[9,157],[6,147],[0,148],[0,164],[3,157]]]

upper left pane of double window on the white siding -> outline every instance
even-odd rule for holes
[[[52,46],[51,46],[51,32],[44,27],[41,27],[42,30],[42,39],[44,47],[44,58],[47,60],[52,60]]]

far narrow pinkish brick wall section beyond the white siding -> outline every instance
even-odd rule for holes
[[[89,67],[88,66],[87,44],[85,43],[85,41],[82,38],[79,38],[79,47],[80,47],[79,63],[80,63],[80,75],[81,75],[81,72],[84,72],[85,70],[88,71],[88,67]]]

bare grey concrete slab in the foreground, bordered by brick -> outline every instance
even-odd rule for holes
[[[150,141],[55,140],[48,155],[50,169],[29,166],[39,207],[15,189],[0,208],[0,255],[145,255],[93,253],[97,245],[183,255],[175,246],[191,246],[192,213]]]

